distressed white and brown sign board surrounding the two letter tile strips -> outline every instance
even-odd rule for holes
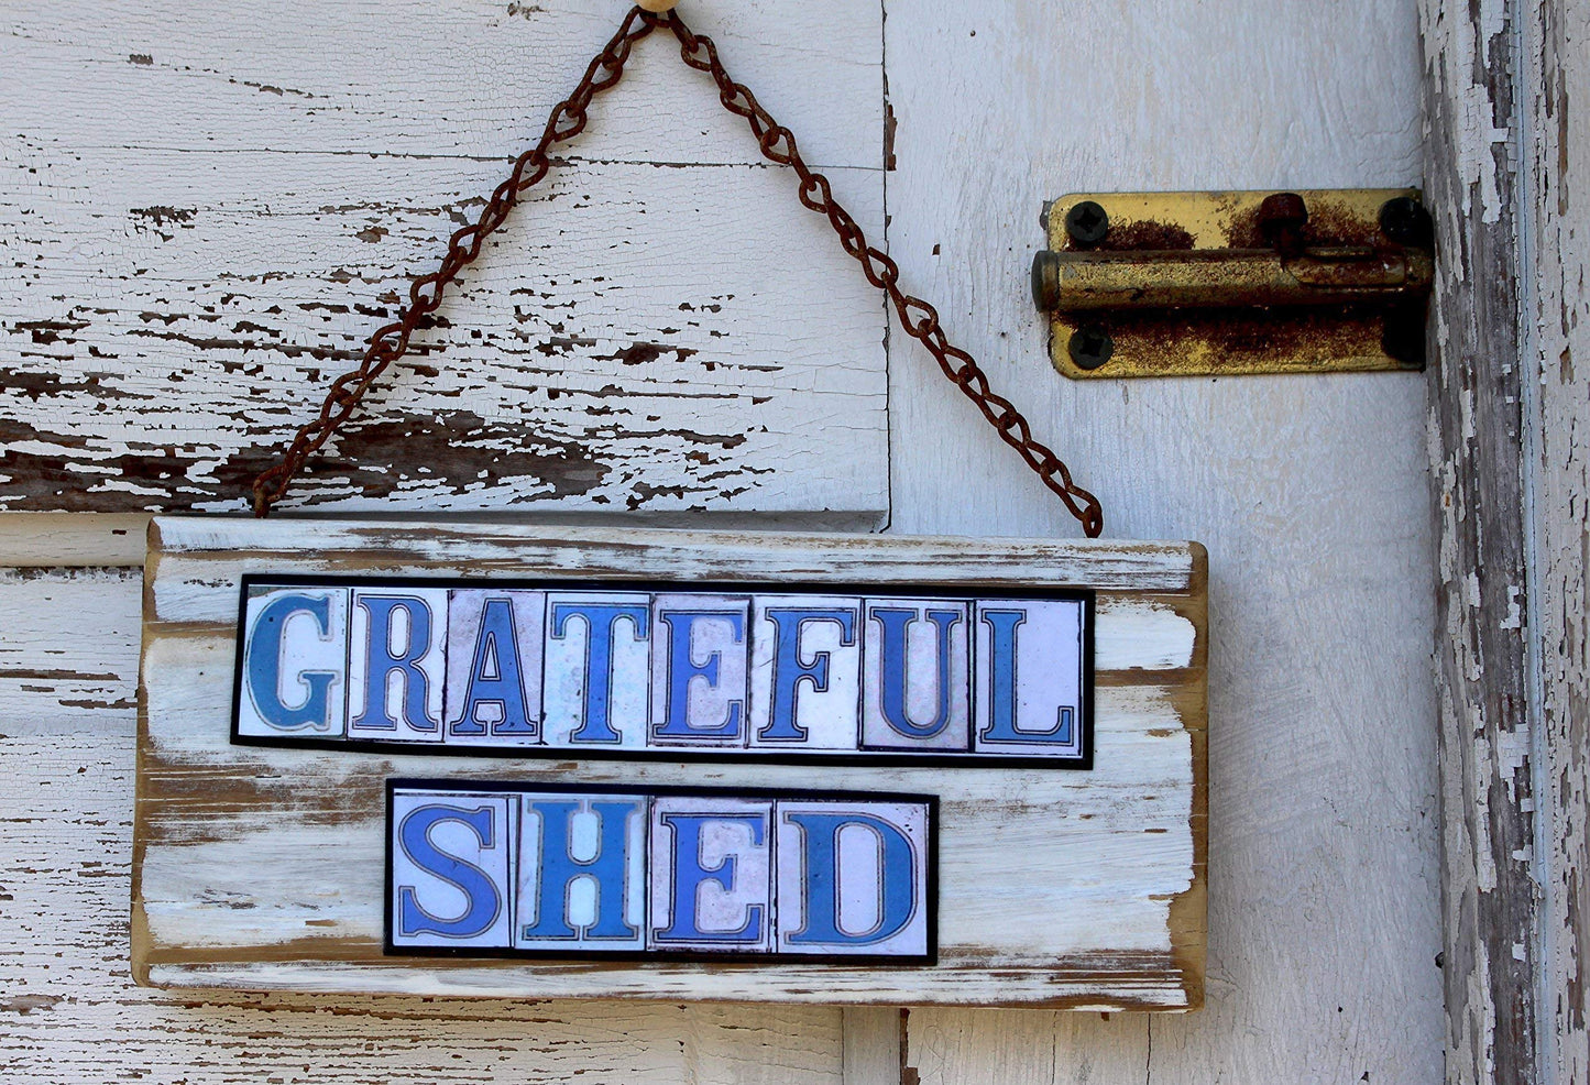
[[[149,530],[134,974],[170,986],[1189,1009],[1202,1001],[1207,625],[1197,544],[156,519]],[[460,762],[232,746],[243,573],[1100,589],[1094,768],[825,765],[940,797],[938,964],[383,958],[393,776],[811,786],[765,764]],[[1153,625],[1142,630],[1145,614]],[[1123,620],[1126,633],[1110,632]],[[1181,651],[1165,651],[1188,630]],[[1132,644],[1140,644],[1132,649]]]

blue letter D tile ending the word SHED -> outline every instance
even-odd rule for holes
[[[927,803],[778,802],[778,951],[925,956]]]

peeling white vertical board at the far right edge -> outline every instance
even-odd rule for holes
[[[1533,498],[1530,651],[1539,667],[1541,1080],[1590,1079],[1590,11],[1523,25],[1523,404]]]

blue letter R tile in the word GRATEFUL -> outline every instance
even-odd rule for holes
[[[355,587],[348,738],[442,741],[447,589]]]

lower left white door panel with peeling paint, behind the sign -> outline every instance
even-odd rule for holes
[[[224,991],[200,1002],[134,986],[140,585],[137,571],[0,571],[0,1066],[51,1085],[847,1080],[849,1026],[824,1007]]]

